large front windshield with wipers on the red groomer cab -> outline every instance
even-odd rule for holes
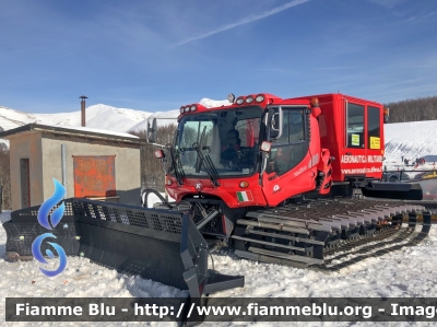
[[[262,110],[244,107],[181,118],[175,161],[184,175],[250,175],[256,170]],[[174,173],[170,165],[169,173]]]

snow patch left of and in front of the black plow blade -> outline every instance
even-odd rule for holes
[[[1,214],[0,220],[9,220],[10,212]],[[0,227],[0,325],[1,326],[58,326],[59,323],[5,323],[5,297],[185,297],[186,291],[163,285],[139,277],[117,273],[81,257],[69,257],[62,273],[47,278],[38,269],[38,262],[4,260],[7,234]],[[54,260],[54,265],[57,265]],[[56,269],[56,267],[48,267]],[[63,323],[63,326],[86,326],[90,323]],[[113,323],[101,326],[119,326]]]

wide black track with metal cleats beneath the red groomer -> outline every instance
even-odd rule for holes
[[[333,200],[331,199],[316,200],[300,205],[284,206],[281,208],[274,208],[268,210],[259,210],[251,214],[248,214],[249,218],[250,217],[256,218],[255,220],[252,220],[253,221],[252,223],[250,223],[250,221],[247,220],[240,221],[239,223],[240,226],[238,232],[239,234],[237,233],[239,236],[237,235],[235,237],[236,238],[235,242],[239,242],[239,247],[237,247],[236,254],[244,258],[250,258],[260,261],[284,264],[296,267],[306,266],[306,268],[311,268],[317,270],[336,271],[339,269],[349,267],[366,258],[378,257],[387,253],[398,250],[404,246],[415,245],[421,241],[423,241],[427,236],[430,230],[430,213],[426,211],[424,207],[417,207],[416,209],[412,209],[413,207],[409,205],[410,203],[404,203],[402,201],[393,202],[385,200],[380,201],[380,200],[367,200],[367,199],[340,198]],[[408,208],[408,212],[397,211],[395,213],[393,213],[393,210],[391,209],[400,208],[400,206],[406,206],[405,208]],[[259,242],[258,244],[256,242],[256,238],[250,240],[250,237],[252,237],[250,235],[250,229],[253,229],[253,226],[257,227],[256,224],[260,224],[259,227],[261,230],[264,229],[264,231],[269,231],[268,227],[269,224],[270,226],[272,226],[274,223],[276,223],[276,227],[274,230],[270,230],[270,232],[279,233],[280,231],[277,226],[281,225],[282,229],[281,222],[283,222],[284,225],[286,225],[287,222],[290,222],[290,220],[292,220],[294,223],[306,222],[308,233],[311,234],[312,227],[322,231],[327,226],[327,224],[332,225],[332,221],[330,221],[330,218],[342,217],[345,220],[347,220],[347,217],[350,217],[351,219],[354,219],[359,217],[358,214],[363,214],[362,212],[365,212],[366,210],[367,212],[373,211],[373,213],[375,213],[375,217],[379,217],[378,222],[383,223],[380,231],[374,234],[370,233],[367,235],[361,235],[358,236],[358,240],[355,238],[342,240],[336,245],[324,246],[324,248],[322,249],[322,254],[320,253],[320,249],[318,250],[317,255],[312,254],[312,258],[315,260],[317,260],[316,258],[319,258],[318,264],[311,261],[311,257],[308,256],[302,257],[299,255],[287,255],[286,253],[284,254],[284,252],[275,252],[274,249],[272,250],[272,248],[274,248],[275,246],[284,247],[283,246],[284,243],[271,242],[271,246],[267,248],[263,247],[264,253],[262,253],[262,248],[259,248],[257,245],[259,244],[265,245],[265,240],[269,238],[262,238],[263,243]],[[386,217],[383,219],[381,219],[380,214],[381,211],[386,211]],[[391,211],[390,218],[387,217],[387,211]],[[409,214],[408,222],[405,221],[405,213]],[[420,213],[420,215],[422,215],[423,218],[422,223],[417,223],[417,213]],[[259,219],[257,219],[257,217],[259,217]],[[375,217],[373,220],[374,223],[375,223]],[[241,233],[243,230],[241,224],[248,225],[248,227],[244,233]],[[249,227],[250,225],[251,227]],[[293,234],[293,227],[296,227],[300,231],[303,229],[299,225],[288,227],[292,230],[292,232],[288,234],[290,236],[292,236],[291,238],[296,237],[293,236],[296,235]],[[418,231],[418,229],[421,229],[421,231]],[[284,232],[286,231],[287,230],[284,227]],[[245,237],[241,237],[241,235]],[[276,238],[281,238],[280,235],[284,234],[275,234],[275,235]],[[305,243],[304,237],[302,238],[299,237],[299,240],[300,242]],[[328,240],[328,237],[326,240]],[[241,242],[244,242],[245,244],[250,244],[250,247],[246,250],[241,250],[241,244],[243,244]],[[251,246],[251,243],[253,243],[255,247]],[[255,253],[252,250],[255,250]],[[339,260],[340,262],[335,264]]]

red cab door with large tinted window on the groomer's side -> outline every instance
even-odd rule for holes
[[[268,205],[274,207],[315,188],[309,110],[305,106],[271,107],[267,125],[267,140],[272,148],[262,175],[262,191]]]

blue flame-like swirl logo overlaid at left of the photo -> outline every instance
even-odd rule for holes
[[[54,210],[54,212],[50,215],[50,222],[48,221],[48,213],[50,212],[50,210],[52,208],[55,208],[55,206],[57,203],[59,203],[60,200],[63,199],[64,195],[66,195],[66,188],[62,186],[62,184],[60,184],[57,179],[54,179],[54,184],[55,184],[55,192],[54,195],[47,199],[40,207],[38,210],[38,222],[39,224],[47,229],[47,230],[52,230],[56,227],[56,225],[60,222],[60,220],[62,219],[63,215],[63,211],[66,210],[66,206],[64,203],[61,203],[57,209]],[[42,243],[45,238],[47,237],[51,237],[51,238],[56,238],[56,236],[51,233],[44,233],[42,235],[39,235],[38,237],[35,238],[34,243],[32,243],[32,254],[34,255],[34,258],[39,261],[40,264],[45,264],[47,265],[48,262],[46,261],[46,259],[43,257],[43,254],[40,252],[40,246]],[[63,271],[63,269],[66,269],[67,267],[67,255],[66,252],[63,250],[62,246],[52,243],[52,242],[47,242],[48,244],[50,244],[57,252],[58,257],[59,257],[59,267],[56,270],[46,270],[43,268],[39,268],[39,270],[48,276],[48,277],[54,277],[57,276],[59,273],[61,273]],[[46,249],[46,255],[49,258],[55,258],[54,253],[50,249]]]

